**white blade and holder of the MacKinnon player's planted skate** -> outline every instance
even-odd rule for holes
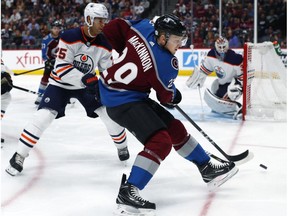
[[[134,208],[132,206],[118,204],[113,212],[117,216],[156,216],[154,209]]]

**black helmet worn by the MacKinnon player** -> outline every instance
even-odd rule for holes
[[[166,14],[160,16],[155,24],[155,35],[160,37],[161,33],[165,33],[166,40],[169,39],[170,35],[177,35],[183,37],[182,46],[187,42],[187,31],[185,24],[174,14]]]

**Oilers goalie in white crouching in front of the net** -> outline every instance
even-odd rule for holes
[[[206,77],[215,71],[217,79],[205,90],[204,101],[212,111],[238,119],[242,115],[242,105],[237,101],[242,95],[242,61],[242,55],[229,49],[228,40],[220,36],[186,85],[192,89],[202,87]]]

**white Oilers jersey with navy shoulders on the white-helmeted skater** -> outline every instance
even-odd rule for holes
[[[103,34],[88,40],[83,27],[65,31],[58,44],[57,58],[50,74],[50,84],[64,89],[82,89],[86,73],[102,72],[112,65],[112,48]],[[98,63],[98,64],[96,64]]]

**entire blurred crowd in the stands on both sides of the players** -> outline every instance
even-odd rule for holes
[[[84,25],[83,10],[91,0],[6,0],[1,1],[3,49],[39,49],[51,23],[61,20],[64,29]],[[99,0],[110,19],[144,18],[151,10],[149,0]],[[231,48],[243,47],[254,38],[254,0],[222,0],[222,35]],[[219,0],[178,0],[173,11],[188,29],[195,48],[210,48],[219,36]],[[286,0],[258,0],[258,42],[275,41],[287,47]],[[145,16],[147,13],[145,14]],[[193,17],[193,19],[192,19]]]

